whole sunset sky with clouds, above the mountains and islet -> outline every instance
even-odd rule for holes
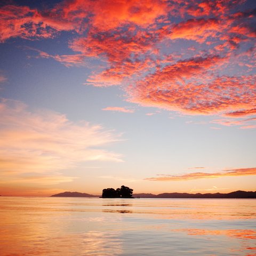
[[[256,187],[254,0],[5,0],[0,195]]]

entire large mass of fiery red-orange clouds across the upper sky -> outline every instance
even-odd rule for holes
[[[141,106],[234,117],[255,114],[254,17],[255,10],[237,12],[229,1],[74,0],[49,10],[3,5],[0,38],[70,31],[74,54],[38,54],[67,67],[97,59],[85,84],[122,86],[127,100]]]

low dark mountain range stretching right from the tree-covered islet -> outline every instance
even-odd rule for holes
[[[189,194],[189,193],[163,193],[163,194],[133,194],[134,197],[141,198],[256,198],[256,191],[234,191],[228,194],[214,193],[214,194]]]

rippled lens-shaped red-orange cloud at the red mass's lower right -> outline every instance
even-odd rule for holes
[[[220,60],[219,57],[195,58],[166,66],[144,81],[127,87],[130,101],[142,106],[201,115],[254,108],[256,76],[222,76],[206,82],[209,79],[206,69]]]

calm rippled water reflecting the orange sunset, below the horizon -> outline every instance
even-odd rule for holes
[[[256,255],[255,199],[0,197],[0,255]]]

